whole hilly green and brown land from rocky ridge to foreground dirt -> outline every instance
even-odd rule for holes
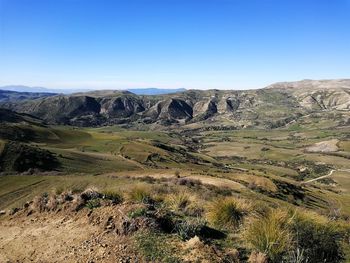
[[[349,262],[348,91],[3,103],[0,261]]]

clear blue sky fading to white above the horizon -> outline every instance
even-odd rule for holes
[[[264,87],[350,78],[350,0],[0,0],[0,85]]]

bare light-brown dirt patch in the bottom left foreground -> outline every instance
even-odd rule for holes
[[[26,211],[0,220],[0,262],[144,262],[128,235],[108,226],[124,206],[101,207],[92,213]],[[107,224],[107,225],[106,225]]]

